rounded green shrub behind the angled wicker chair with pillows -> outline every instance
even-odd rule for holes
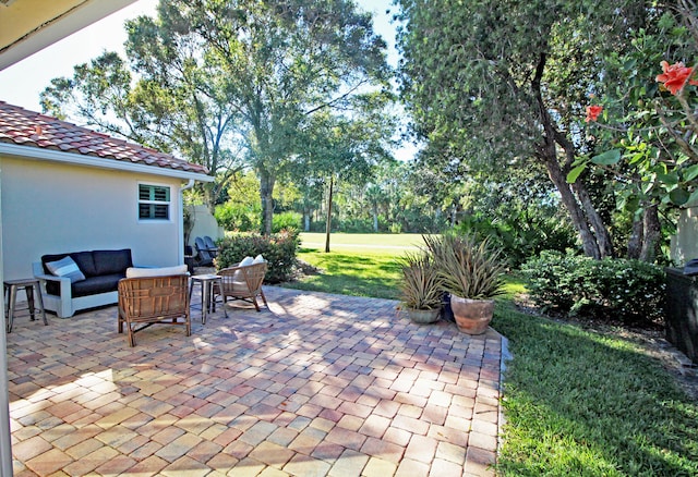
[[[233,234],[220,241],[215,264],[218,270],[233,267],[244,257],[260,254],[267,260],[268,270],[265,282],[279,283],[288,281],[296,265],[296,250],[299,238],[296,231],[281,231],[272,236],[253,234]]]

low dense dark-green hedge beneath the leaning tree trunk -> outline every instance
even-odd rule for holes
[[[531,298],[544,310],[625,325],[663,317],[664,272],[651,264],[545,250],[521,270]]]

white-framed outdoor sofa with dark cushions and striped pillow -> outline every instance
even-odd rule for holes
[[[41,282],[44,306],[60,318],[118,303],[119,280],[133,267],[131,249],[44,255],[32,265]]]

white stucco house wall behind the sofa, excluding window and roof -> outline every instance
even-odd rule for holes
[[[131,248],[137,266],[179,264],[181,180],[9,157],[0,167],[5,280],[64,252]],[[139,221],[140,183],[171,187],[169,221]]]

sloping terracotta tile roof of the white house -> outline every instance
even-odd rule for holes
[[[0,101],[0,143],[206,174],[203,166]]]

